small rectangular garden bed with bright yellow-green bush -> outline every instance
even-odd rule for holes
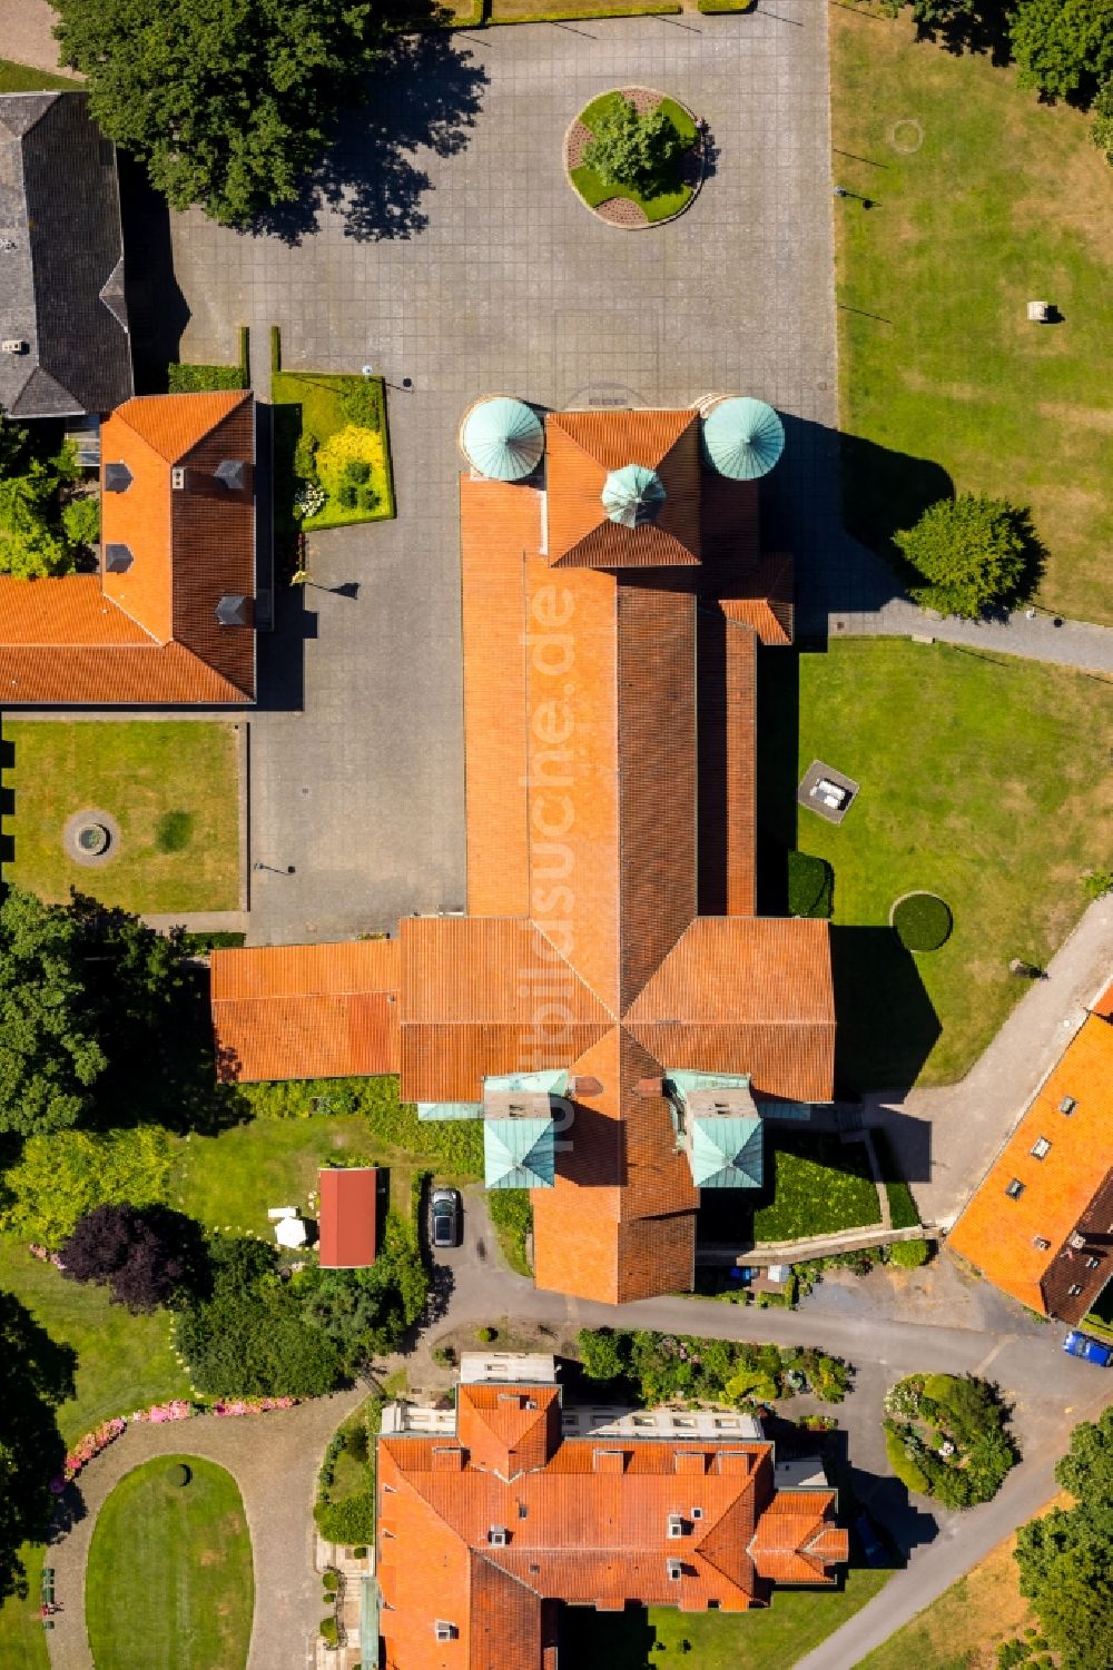
[[[271,399],[282,526],[314,533],[396,514],[383,377],[276,371]]]

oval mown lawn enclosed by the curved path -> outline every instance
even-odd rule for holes
[[[192,1475],[184,1486],[179,1463]],[[102,1506],[89,1551],[97,1670],[242,1670],[254,1590],[232,1475],[189,1455],[134,1468]]]

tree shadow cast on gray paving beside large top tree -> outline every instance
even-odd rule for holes
[[[465,149],[486,82],[486,70],[448,30],[396,35],[368,78],[366,105],[341,117],[297,202],[261,214],[251,230],[301,244],[328,207],[358,242],[416,237],[428,225],[421,199],[433,185],[416,155]]]

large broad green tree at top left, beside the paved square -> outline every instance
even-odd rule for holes
[[[371,0],[60,0],[62,62],[175,209],[292,202],[386,42]]]

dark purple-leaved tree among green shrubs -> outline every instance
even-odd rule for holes
[[[199,1226],[160,1206],[95,1206],[60,1251],[70,1281],[107,1284],[135,1313],[169,1304],[206,1274]]]

